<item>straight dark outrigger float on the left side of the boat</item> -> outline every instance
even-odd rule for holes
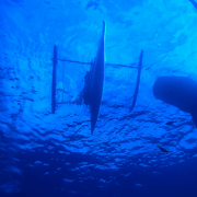
[[[53,82],[51,82],[51,113],[56,113],[56,73],[57,73],[57,46],[54,46],[54,58],[53,58]]]

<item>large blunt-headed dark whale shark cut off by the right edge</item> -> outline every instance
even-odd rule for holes
[[[190,113],[197,126],[197,82],[186,77],[161,77],[153,85],[157,99]]]

